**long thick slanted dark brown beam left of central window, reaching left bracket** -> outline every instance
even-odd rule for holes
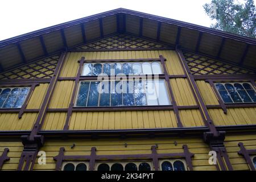
[[[43,120],[44,120],[44,117],[46,115],[46,110],[47,110],[47,107],[49,105],[49,101],[51,100],[52,92],[55,88],[57,77],[59,77],[60,70],[63,66],[65,56],[66,56],[66,53],[61,53],[61,56],[60,56],[59,61],[57,63],[57,67],[55,69],[55,72],[53,73],[53,77],[51,79],[51,82],[49,83],[49,86],[48,86],[48,89],[47,89],[47,92],[46,92],[46,96],[44,96],[43,103],[40,107],[38,118],[36,118],[35,124],[32,127],[31,133],[28,137],[29,140],[34,140],[35,135],[38,133],[38,131],[40,130],[40,127],[42,127],[42,125],[43,125]]]

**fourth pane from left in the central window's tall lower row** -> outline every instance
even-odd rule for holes
[[[122,81],[111,82],[111,105],[122,106]]]

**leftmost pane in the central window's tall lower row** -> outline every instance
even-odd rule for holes
[[[79,94],[77,96],[76,106],[77,107],[85,107],[86,101],[88,97],[88,90],[89,90],[89,81],[82,81],[79,88]]]

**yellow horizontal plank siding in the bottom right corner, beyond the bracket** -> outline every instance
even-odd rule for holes
[[[228,151],[230,163],[234,170],[250,170],[248,164],[242,155],[237,152],[240,151],[238,143],[242,142],[247,150],[256,149],[256,135],[227,135],[225,138],[225,146]]]

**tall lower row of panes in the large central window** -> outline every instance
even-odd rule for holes
[[[76,107],[170,105],[165,80],[80,81]]]

